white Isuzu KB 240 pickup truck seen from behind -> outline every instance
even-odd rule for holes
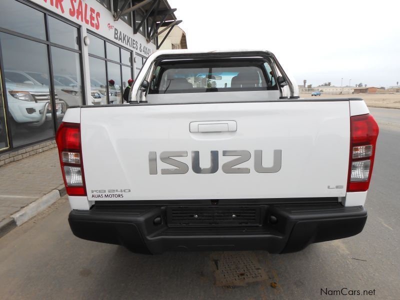
[[[76,236],[283,253],[362,230],[378,135],[362,99],[299,98],[268,51],[157,51],[131,92],[57,131]]]

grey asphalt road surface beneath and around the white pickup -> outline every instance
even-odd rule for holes
[[[369,298],[400,298],[400,109],[370,110],[380,133],[366,202],[368,219],[360,234],[297,253],[255,251],[266,278],[221,287],[214,275],[218,253],[140,255],[74,237],[63,197],[0,239],[0,297],[317,299],[329,298],[321,295],[321,288],[347,288],[343,291],[371,290],[374,296]]]

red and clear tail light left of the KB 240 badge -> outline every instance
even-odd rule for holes
[[[66,193],[85,196],[80,124],[62,122],[55,134]]]

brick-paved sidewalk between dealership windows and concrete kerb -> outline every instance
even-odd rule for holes
[[[56,148],[0,167],[0,222],[63,184]]]

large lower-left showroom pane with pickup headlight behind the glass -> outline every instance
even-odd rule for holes
[[[46,45],[7,33],[0,40],[13,146],[53,136]]]

